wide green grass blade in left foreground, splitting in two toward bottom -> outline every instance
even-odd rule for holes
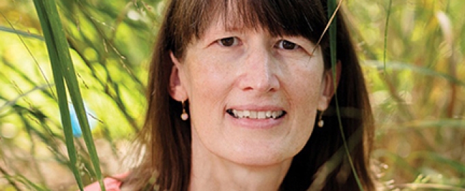
[[[42,25],[45,41],[47,43],[47,49],[49,50],[49,57],[51,59],[53,76],[58,94],[59,109],[62,116],[66,147],[68,148],[68,154],[70,156],[70,168],[72,168],[79,189],[83,190],[82,179],[76,165],[77,152],[72,136],[71,121],[69,117],[70,113],[64,84],[65,81],[72,104],[75,106],[79,125],[83,132],[85,145],[88,147],[94,171],[96,171],[96,177],[100,183],[101,190],[105,191],[98,156],[96,154],[94,141],[90,132],[88,119],[85,115],[81,92],[77,83],[77,77],[70,57],[69,46],[66,42],[66,35],[59,18],[57,6],[53,0],[34,0],[34,5],[38,12],[40,24]]]

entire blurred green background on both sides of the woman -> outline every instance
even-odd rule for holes
[[[144,119],[148,60],[163,3],[57,4],[83,100],[97,121],[102,170],[121,173],[122,145]],[[465,188],[465,1],[359,0],[345,7],[371,92],[373,168],[382,184]],[[77,189],[49,62],[32,1],[1,1],[0,190]],[[84,184],[96,181],[82,138],[75,141]]]

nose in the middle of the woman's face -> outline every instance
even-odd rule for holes
[[[239,87],[243,91],[267,93],[280,88],[278,65],[266,47],[253,48],[245,57],[241,67]]]

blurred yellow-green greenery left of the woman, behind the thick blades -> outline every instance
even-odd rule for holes
[[[96,146],[107,149],[98,148],[104,174],[118,173],[118,144],[131,140],[144,118],[147,60],[161,3],[57,3],[83,100],[97,121]],[[77,189],[34,4],[2,1],[0,13],[0,190]],[[96,181],[79,134],[75,142],[84,184]]]

